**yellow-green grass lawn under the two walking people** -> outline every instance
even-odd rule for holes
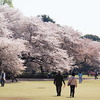
[[[67,83],[67,81],[66,81]],[[69,98],[69,87],[56,96],[53,81],[20,81],[0,87],[0,100],[100,100],[100,80],[84,80],[76,88],[75,98]]]

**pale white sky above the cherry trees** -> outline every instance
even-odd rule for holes
[[[25,16],[49,15],[57,24],[100,37],[100,0],[12,0]]]

